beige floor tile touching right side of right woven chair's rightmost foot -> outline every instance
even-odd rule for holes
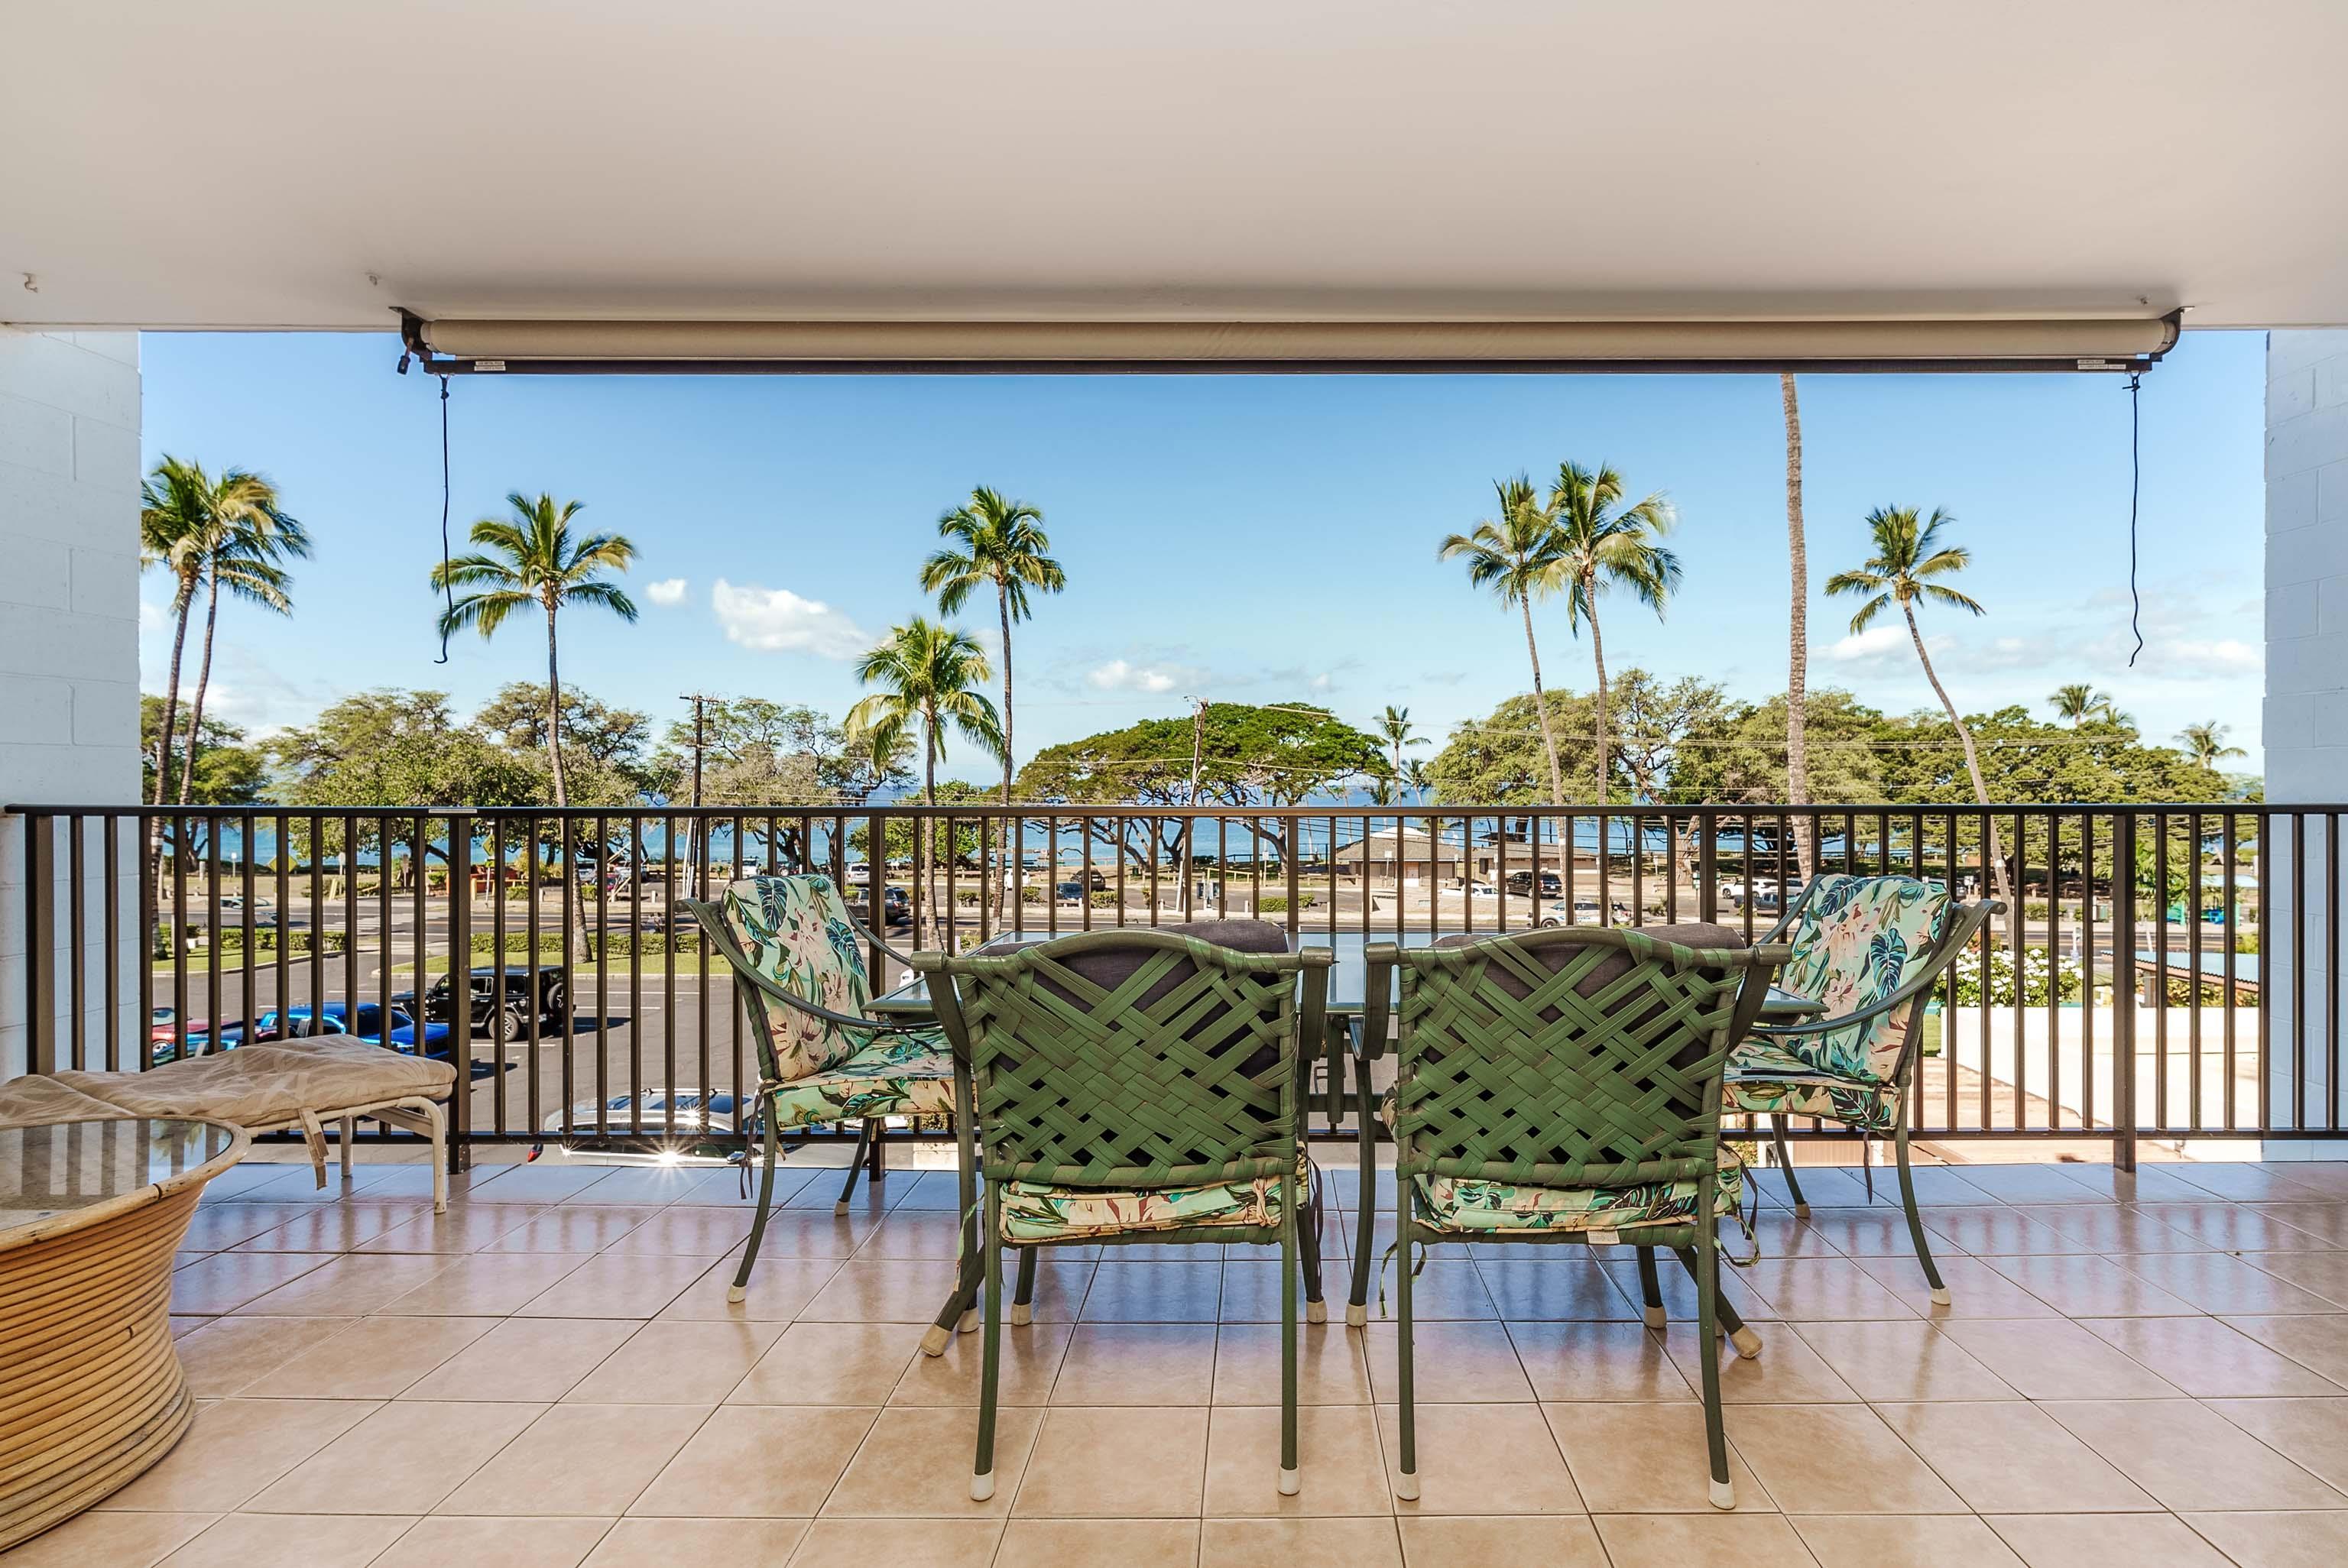
[[[1789,1514],[1956,1514],[1965,1507],[1867,1406],[1730,1406],[1728,1437]]]

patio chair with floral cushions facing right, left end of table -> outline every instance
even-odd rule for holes
[[[906,965],[913,960],[857,925],[829,876],[754,876],[730,883],[721,901],[683,899],[683,906],[733,967],[749,1035],[758,1042],[754,1101],[765,1167],[758,1216],[726,1296],[742,1300],[775,1199],[782,1134],[857,1124],[857,1153],[831,1209],[848,1214],[866,1157],[873,1178],[885,1171],[885,1117],[951,1115],[953,1061],[935,1026],[864,1016],[871,979],[862,944]]]

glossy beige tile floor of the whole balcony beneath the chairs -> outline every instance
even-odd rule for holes
[[[1343,1300],[1357,1178],[1329,1185]],[[1524,1249],[1425,1268],[1416,1505],[1376,1307],[1305,1329],[1280,1498],[1277,1272],[1059,1256],[974,1505],[977,1340],[918,1354],[949,1174],[834,1218],[838,1171],[787,1167],[728,1307],[728,1171],[481,1164],[434,1218],[416,1164],[326,1192],[244,1164],[176,1275],[195,1430],[5,1568],[2348,1561],[2348,1164],[1928,1169],[1954,1307],[1853,1174],[1806,1185],[1796,1221],[1763,1176],[1763,1261],[1728,1282],[1766,1338],[1726,1366],[1735,1514],[1705,1505],[1676,1270],[1651,1333],[1627,1251]]]

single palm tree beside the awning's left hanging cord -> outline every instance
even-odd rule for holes
[[[571,519],[587,502],[552,495],[531,500],[521,491],[505,498],[510,519],[484,516],[467,535],[484,552],[458,556],[432,568],[437,589],[477,589],[456,599],[439,617],[441,636],[477,627],[484,638],[514,610],[538,603],[547,613],[547,768],[554,775],[554,805],[571,805],[564,784],[564,685],[556,660],[554,617],[566,603],[599,603],[620,620],[636,620],[636,603],[618,582],[599,573],[625,573],[636,547],[618,533],[571,535]]]

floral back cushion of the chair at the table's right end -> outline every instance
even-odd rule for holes
[[[1784,986],[1827,1005],[1827,1016],[1888,998],[1932,960],[1949,920],[1949,890],[1911,876],[1822,876],[1787,932]],[[1909,1009],[1822,1035],[1787,1035],[1784,1049],[1820,1073],[1890,1082],[1907,1045]]]

